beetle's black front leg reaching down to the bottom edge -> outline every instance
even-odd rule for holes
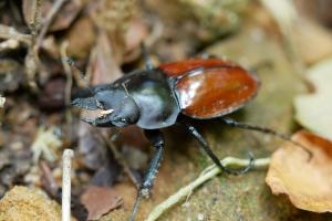
[[[131,217],[131,221],[135,220],[136,213],[138,211],[138,206],[142,197],[148,198],[149,191],[153,187],[153,181],[156,177],[158,166],[160,165],[160,160],[163,157],[164,150],[164,137],[159,130],[145,130],[146,138],[152,143],[152,145],[156,148],[155,154],[149,162],[147,172],[144,177],[142,185],[138,188],[136,201],[133,207],[133,212]]]

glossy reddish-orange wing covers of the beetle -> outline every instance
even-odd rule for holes
[[[257,94],[258,78],[241,66],[220,59],[195,59],[158,66],[177,77],[176,94],[181,112],[205,119],[230,114]]]

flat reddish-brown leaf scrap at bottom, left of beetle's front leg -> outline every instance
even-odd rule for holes
[[[111,188],[90,186],[82,194],[81,202],[87,209],[87,220],[97,220],[122,206],[123,200]]]

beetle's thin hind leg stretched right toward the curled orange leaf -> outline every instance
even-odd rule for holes
[[[279,137],[279,138],[281,138],[286,141],[290,141],[290,143],[297,145],[298,147],[301,147],[305,152],[308,152],[309,160],[311,160],[311,158],[312,158],[312,151],[309,150],[305,146],[299,144],[298,141],[292,140],[290,137],[281,134],[281,133],[274,131],[273,129],[270,129],[270,128],[267,128],[267,127],[260,127],[260,126],[251,125],[251,124],[247,124],[247,123],[236,122],[235,119],[229,118],[229,117],[224,117],[224,118],[221,118],[221,120],[225,124],[227,124],[231,127],[238,127],[238,128],[241,128],[241,129],[256,130],[256,131],[260,131],[260,133],[263,133],[263,134],[273,135],[273,136]]]

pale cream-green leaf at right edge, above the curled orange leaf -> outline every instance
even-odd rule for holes
[[[332,140],[332,57],[309,70],[308,81],[314,93],[294,99],[295,118],[314,134]]]

